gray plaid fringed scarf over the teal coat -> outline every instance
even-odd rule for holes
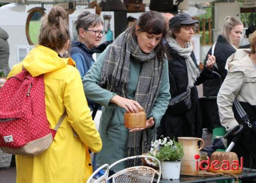
[[[121,97],[129,98],[131,57],[142,63],[134,100],[145,109],[148,116],[159,94],[164,62],[158,60],[155,50],[149,54],[141,52],[132,28],[124,31],[109,45],[99,85]],[[127,157],[147,152],[151,147],[151,141],[155,140],[155,134],[156,131],[152,130],[129,133]]]

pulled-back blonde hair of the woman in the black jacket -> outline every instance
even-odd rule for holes
[[[243,26],[243,23],[240,19],[236,18],[236,17],[232,17],[232,16],[227,16],[225,18],[225,23],[222,27],[222,30],[221,30],[221,35],[223,37],[226,38],[226,40],[228,41],[228,43],[234,47],[235,49],[238,49],[239,45],[236,47],[230,40],[229,38],[229,33],[230,31],[235,27],[235,26],[238,26],[238,25],[242,25]]]

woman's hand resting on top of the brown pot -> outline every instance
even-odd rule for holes
[[[120,97],[119,95],[115,95],[110,102],[124,108],[127,112],[138,112],[138,108],[142,108],[138,102]]]

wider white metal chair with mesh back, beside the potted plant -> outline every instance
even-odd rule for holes
[[[123,163],[124,161],[135,159],[135,158],[147,158],[153,159],[159,165],[159,170],[155,170],[151,167],[147,166],[134,166],[130,168],[125,168],[116,172],[115,174],[111,175],[108,180],[112,179],[113,183],[152,183],[154,180],[155,175],[158,176],[157,183],[160,181],[161,177],[161,164],[159,160],[152,156],[147,155],[138,155],[138,156],[131,156],[120,159],[119,161],[110,165],[110,169],[117,165],[118,163]]]

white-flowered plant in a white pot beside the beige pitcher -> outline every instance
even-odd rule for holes
[[[161,136],[161,139],[152,142],[151,150],[147,154],[161,162],[163,179],[180,178],[180,164],[184,154],[182,144]]]

